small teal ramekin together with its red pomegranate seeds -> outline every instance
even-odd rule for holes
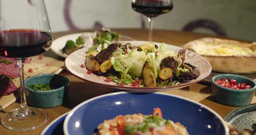
[[[256,83],[247,77],[221,74],[212,77],[212,95],[217,103],[240,107],[252,102]]]

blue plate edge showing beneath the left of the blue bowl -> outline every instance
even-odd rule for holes
[[[59,116],[57,119],[53,120],[40,135],[64,135],[63,123],[69,112]]]

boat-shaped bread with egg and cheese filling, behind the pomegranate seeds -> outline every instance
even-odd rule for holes
[[[256,43],[207,37],[188,42],[184,48],[206,58],[213,71],[256,73]]]

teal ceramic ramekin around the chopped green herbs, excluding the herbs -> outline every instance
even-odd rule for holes
[[[29,85],[39,83],[50,83],[50,86],[54,89],[50,91],[36,91],[28,87]],[[68,86],[69,80],[63,75],[43,74],[30,77],[25,80],[28,105],[36,108],[60,106],[66,99]]]

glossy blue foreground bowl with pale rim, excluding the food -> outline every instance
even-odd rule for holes
[[[164,119],[180,122],[190,135],[228,135],[224,120],[200,103],[163,93],[116,92],[76,106],[64,121],[65,135],[93,135],[104,120],[117,115],[152,114],[160,107]]]

